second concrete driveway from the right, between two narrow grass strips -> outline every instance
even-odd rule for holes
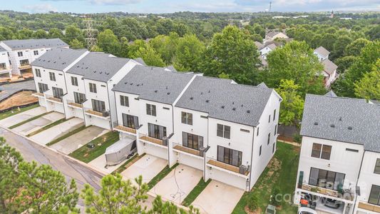
[[[161,195],[164,200],[182,203],[202,178],[202,171],[188,165],[178,165],[155,185],[150,193]]]

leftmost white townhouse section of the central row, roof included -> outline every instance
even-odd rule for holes
[[[33,96],[38,97],[39,105],[46,107],[46,111],[65,113],[63,97],[68,92],[66,71],[86,54],[88,51],[85,49],[58,48],[52,49],[31,63],[37,89]]]

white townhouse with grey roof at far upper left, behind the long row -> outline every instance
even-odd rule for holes
[[[66,48],[68,44],[61,39],[24,39],[0,41],[0,46],[7,51],[11,73],[21,76],[30,72],[31,62],[53,48]]]

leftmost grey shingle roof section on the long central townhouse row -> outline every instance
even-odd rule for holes
[[[67,68],[67,66],[76,61],[76,59],[86,53],[86,51],[86,49],[52,49],[51,51],[48,51],[38,57],[31,63],[31,65],[63,71],[63,69]]]

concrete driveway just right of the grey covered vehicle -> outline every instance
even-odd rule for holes
[[[133,183],[135,182],[135,178],[142,175],[143,182],[148,183],[155,177],[155,175],[160,173],[166,165],[168,165],[168,161],[147,154],[143,156],[143,158],[140,158],[140,160],[130,165],[130,167],[126,170],[123,170],[121,175],[123,175],[125,180],[130,179]]]

